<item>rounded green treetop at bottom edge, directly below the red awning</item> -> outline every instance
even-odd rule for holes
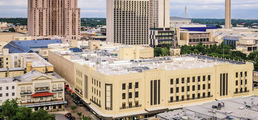
[[[32,120],[56,120],[56,116],[52,114],[48,114],[46,110],[39,109],[36,112],[33,112],[30,116]]]

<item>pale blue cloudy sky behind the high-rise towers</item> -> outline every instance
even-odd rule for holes
[[[27,17],[28,0],[0,0],[0,17]],[[106,0],[78,0],[82,17],[105,17]],[[171,16],[223,18],[224,0],[170,0]],[[258,19],[257,0],[232,0],[233,19]]]

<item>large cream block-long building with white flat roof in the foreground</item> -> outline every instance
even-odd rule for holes
[[[59,63],[73,63],[74,69],[66,71],[74,72],[73,89],[100,119],[143,119],[189,104],[254,94],[249,62],[194,54],[120,60],[104,50],[61,53],[50,52],[53,60],[63,56]]]

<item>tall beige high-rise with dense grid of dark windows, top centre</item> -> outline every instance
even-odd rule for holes
[[[149,0],[107,0],[107,41],[149,45]]]

